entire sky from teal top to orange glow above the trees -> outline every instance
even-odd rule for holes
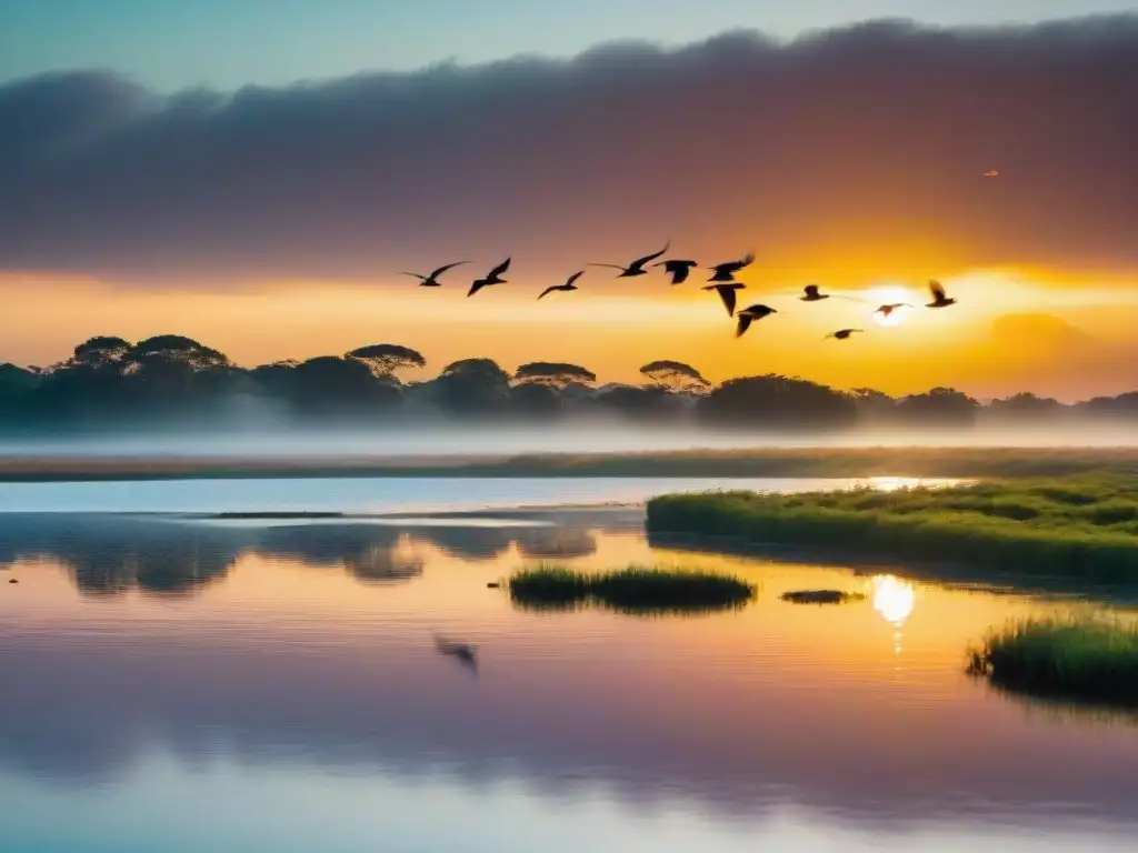
[[[602,381],[1131,390],[1138,19],[1066,17],[1128,6],[0,0],[0,361],[180,333],[245,364],[389,341]],[[669,239],[753,250],[741,299],[780,314],[735,340],[706,273],[585,266]],[[874,323],[931,278],[959,305]]]

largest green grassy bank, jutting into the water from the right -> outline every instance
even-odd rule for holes
[[[949,488],[666,495],[651,533],[951,562],[1001,573],[1138,581],[1138,477],[1088,474]]]

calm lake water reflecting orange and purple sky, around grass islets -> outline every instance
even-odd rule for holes
[[[147,483],[104,508],[231,508],[250,488],[277,503],[240,508],[675,486],[467,480],[439,495],[372,481],[369,496],[337,482],[339,497],[314,481]],[[55,489],[68,508],[110,494]],[[22,494],[24,510],[51,496],[5,487],[3,505]],[[740,613],[641,619],[527,613],[487,588],[542,558],[726,568],[761,589]],[[1054,601],[652,547],[627,511],[384,524],[9,513],[0,566],[5,853],[1132,851],[1138,833],[1133,721],[963,674],[989,626]],[[778,599],[807,587],[868,597]],[[436,633],[476,644],[477,671],[440,655]]]

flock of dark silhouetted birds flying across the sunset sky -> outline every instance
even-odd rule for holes
[[[651,255],[645,255],[642,258],[636,258],[630,264],[621,266],[620,264],[589,264],[588,266],[602,266],[609,267],[611,270],[619,270],[620,272],[616,278],[618,279],[635,279],[640,275],[648,275],[650,267],[663,267],[663,272],[671,276],[671,283],[683,284],[687,281],[692,273],[692,270],[699,266],[695,260],[688,260],[683,258],[673,258],[661,260],[668,249],[671,248],[671,241],[665,245],[660,251],[652,252]],[[506,258],[501,264],[495,266],[489,273],[483,279],[476,279],[471,285],[470,290],[467,291],[467,296],[473,296],[483,288],[488,288],[494,284],[505,284],[506,279],[502,276],[510,268],[510,262],[512,258]],[[414,279],[419,279],[419,285],[424,288],[438,288],[443,285],[439,281],[439,276],[443,273],[453,270],[456,266],[462,266],[463,264],[469,264],[469,260],[459,260],[453,264],[446,264],[438,267],[437,270],[422,275],[420,273],[402,273],[403,275],[410,275]],[[751,326],[751,323],[757,320],[762,320],[772,314],[777,314],[775,308],[769,305],[756,304],[748,306],[747,308],[741,308],[735,310],[737,292],[740,290],[745,290],[747,285],[736,281],[735,276],[742,272],[744,268],[749,267],[754,263],[754,254],[748,254],[747,257],[739,260],[728,260],[723,264],[716,264],[714,266],[707,267],[711,273],[711,278],[708,279],[708,283],[703,287],[703,290],[714,290],[718,293],[719,299],[723,301],[724,307],[727,309],[727,315],[735,318],[735,337],[741,338],[747,330]],[[580,270],[566,280],[564,284],[553,284],[546,288],[537,297],[538,299],[544,299],[550,293],[556,291],[570,292],[574,290],[579,290],[577,287],[577,280],[585,274],[584,270]],[[929,303],[926,308],[947,308],[950,305],[956,305],[956,299],[950,298],[945,291],[943,285],[937,280],[929,282],[929,290],[932,293],[932,301]],[[803,303],[820,303],[824,299],[830,299],[831,293],[823,293],[822,288],[817,284],[807,284],[802,289],[802,296],[799,299]],[[839,297],[839,298],[851,298],[851,297]],[[914,306],[908,303],[889,303],[877,307],[873,313],[880,314],[883,318],[889,317],[894,312],[901,308],[912,308]],[[864,329],[839,329],[836,332],[831,332],[827,338],[834,338],[836,340],[847,340],[856,332],[864,332]]]

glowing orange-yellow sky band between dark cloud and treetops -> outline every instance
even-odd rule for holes
[[[537,303],[544,279],[519,275],[468,299],[464,281],[422,290],[411,280],[373,285],[335,282],[250,284],[228,290],[139,289],[94,280],[7,276],[0,293],[0,358],[51,364],[94,334],[141,339],[185,334],[239,364],[340,354],[364,343],[421,350],[428,371],[457,358],[489,356],[512,370],[526,361],[568,361],[601,382],[636,379],[655,358],[686,361],[714,380],[768,371],[891,394],[951,384],[979,396],[1032,390],[1079,399],[1138,388],[1130,330],[1138,291],[1125,282],[1064,280],[1038,271],[973,271],[943,279],[960,305],[920,308],[899,326],[871,317],[881,301],[923,305],[916,283],[869,279],[834,288],[850,298],[806,305],[802,280],[772,283],[756,267],[741,305],[765,301],[780,314],[741,340],[732,321],[699,283],[671,288],[659,276],[616,282],[592,271],[576,293]],[[806,279],[807,281],[809,279]],[[409,283],[410,282],[410,283]],[[30,324],[27,317],[50,318]],[[826,333],[860,326],[850,341]]]

